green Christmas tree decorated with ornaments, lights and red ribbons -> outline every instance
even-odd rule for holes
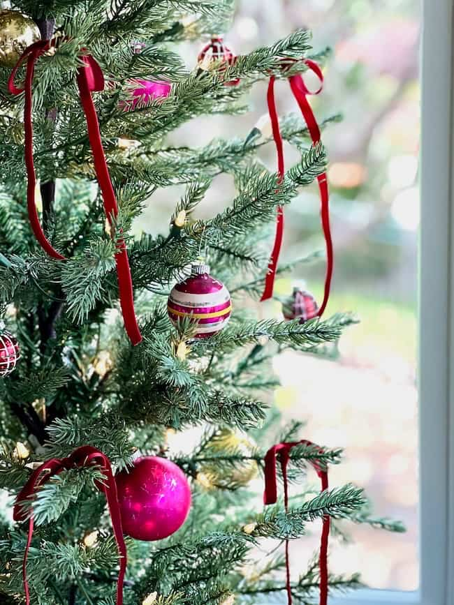
[[[293,267],[268,266],[270,226],[302,186],[325,183],[314,128],[291,114],[274,137],[167,140],[325,59],[308,31],[235,57],[213,38],[232,15],[230,0],[22,0],[0,13],[0,487],[16,498],[15,521],[9,505],[0,519],[2,604],[325,602],[327,583],[360,585],[327,575],[330,527],[402,530],[369,514],[360,488],[328,488],[341,451],[269,406],[274,354],[334,357],[355,321],[322,319],[305,292],[282,318],[256,319],[265,285]],[[180,43],[210,38],[189,68]],[[280,138],[301,159],[275,173],[256,151],[279,153]],[[235,199],[196,218],[221,173]],[[168,232],[131,237],[170,185],[185,191]],[[201,436],[181,453],[191,427]],[[319,555],[292,577],[276,546],[321,523]]]

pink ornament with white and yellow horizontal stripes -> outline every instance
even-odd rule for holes
[[[232,304],[226,286],[212,278],[210,267],[194,263],[191,276],[177,283],[167,301],[170,321],[175,325],[180,318],[197,321],[196,338],[213,336],[226,327]]]

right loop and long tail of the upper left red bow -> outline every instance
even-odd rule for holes
[[[89,142],[94,158],[94,169],[103,195],[105,216],[107,216],[110,225],[112,225],[113,221],[118,216],[117,199],[105,160],[96,108],[94,107],[93,99],[91,98],[91,91],[100,91],[103,89],[104,78],[101,68],[91,55],[85,55],[82,60],[84,66],[78,71],[80,100],[87,121]],[[119,299],[122,308],[124,327],[131,343],[133,343],[133,345],[138,345],[138,343],[142,341],[142,335],[140,334],[136,311],[134,309],[133,283],[128,253],[122,237],[117,241],[115,262],[117,264]]]

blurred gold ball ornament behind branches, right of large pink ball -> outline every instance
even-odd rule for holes
[[[232,431],[230,428],[222,428],[207,445],[204,454],[209,457],[210,454],[219,456],[221,454],[237,454],[238,456],[251,456],[256,449],[256,444],[248,436],[240,431]],[[231,486],[244,487],[249,481],[252,481],[258,473],[258,465],[255,460],[237,461],[235,466],[225,462],[210,461],[200,465],[199,475],[203,475],[206,482],[211,486],[223,487]]]

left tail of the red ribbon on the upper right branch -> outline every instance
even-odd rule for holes
[[[279,128],[279,116],[276,108],[276,98],[274,96],[274,84],[276,78],[274,75],[270,77],[268,83],[268,113],[270,114],[272,137],[277,151],[277,182],[280,185],[284,180],[285,165],[284,165],[284,142],[281,137],[281,130]],[[272,297],[274,290],[274,279],[276,277],[277,264],[279,262],[279,255],[281,253],[282,238],[284,236],[284,208],[282,206],[277,207],[276,216],[276,234],[274,235],[274,244],[272,253],[270,256],[270,262],[268,263],[268,271],[265,276],[265,289],[261,297],[261,301],[268,300]]]

